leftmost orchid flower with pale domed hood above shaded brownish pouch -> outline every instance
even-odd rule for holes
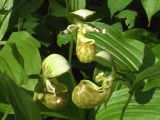
[[[36,93],[35,100],[40,100],[46,107],[62,109],[68,99],[68,88],[59,83],[56,77],[68,72],[70,66],[67,60],[59,54],[51,54],[42,63],[42,88]]]

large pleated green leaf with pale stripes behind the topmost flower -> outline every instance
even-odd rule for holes
[[[106,24],[98,22],[92,24],[101,30],[105,29],[105,34],[87,33],[87,37],[95,39],[97,52],[104,50],[111,53],[119,70],[138,71],[143,61],[144,44],[124,38],[121,33]],[[135,43],[140,48],[137,48]]]

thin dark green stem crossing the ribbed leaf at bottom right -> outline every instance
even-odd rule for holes
[[[120,115],[120,120],[123,120],[124,113],[125,113],[125,111],[126,111],[126,109],[127,109],[128,104],[129,104],[130,101],[131,101],[132,96],[133,96],[133,90],[129,92],[128,99],[127,99],[125,105],[124,105],[123,108],[122,108],[122,112],[121,112],[121,115]]]

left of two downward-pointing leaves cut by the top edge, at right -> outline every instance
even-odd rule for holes
[[[116,12],[123,10],[131,2],[132,0],[108,0],[108,8],[110,9],[111,17]]]

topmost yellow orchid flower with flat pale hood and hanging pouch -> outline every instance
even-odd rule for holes
[[[69,14],[72,23],[63,33],[72,33],[77,30],[76,55],[80,62],[90,63],[94,60],[96,54],[96,45],[94,39],[85,37],[87,32],[101,32],[95,27],[91,27],[84,21],[95,12],[87,9],[80,9]]]

